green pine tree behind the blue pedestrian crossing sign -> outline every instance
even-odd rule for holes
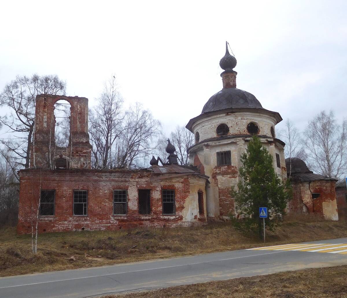
[[[285,208],[292,196],[291,187],[289,181],[283,182],[275,173],[273,156],[262,147],[257,136],[253,136],[248,143],[241,161],[241,179],[231,194],[242,219],[233,222],[244,231],[259,233],[261,238],[263,220],[259,218],[259,207],[268,207],[265,224],[269,230],[273,230],[285,215]]]

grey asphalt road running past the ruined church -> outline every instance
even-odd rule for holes
[[[313,243],[347,243],[347,238]],[[347,264],[347,254],[233,250],[88,269],[0,278],[0,297],[95,297],[242,276]]]

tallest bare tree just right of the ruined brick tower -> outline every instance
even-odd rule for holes
[[[98,104],[89,113],[89,134],[92,143],[94,168],[110,168],[112,146],[123,131],[123,99],[118,91],[116,77],[105,82]]]

